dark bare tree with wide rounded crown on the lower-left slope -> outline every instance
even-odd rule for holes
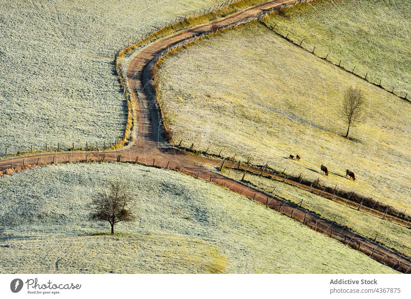
[[[94,212],[90,220],[108,221],[111,226],[111,234],[114,234],[114,225],[121,221],[135,220],[133,205],[135,199],[128,192],[125,184],[120,182],[109,183],[109,192],[98,193],[93,198],[91,208]]]

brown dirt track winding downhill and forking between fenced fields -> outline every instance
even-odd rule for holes
[[[286,202],[281,198],[260,193],[257,189],[248,187],[241,182],[215,172],[215,167],[221,165],[221,160],[219,159],[189,154],[170,146],[164,141],[158,103],[150,84],[151,67],[154,65],[158,55],[178,43],[209,33],[212,31],[213,26],[222,28],[245,24],[251,22],[255,17],[264,15],[269,9],[290,2],[293,1],[277,0],[260,4],[227,18],[220,19],[212,24],[201,25],[193,29],[181,31],[171,37],[159,39],[138,52],[127,70],[127,82],[133,90],[133,99],[138,111],[138,131],[135,144],[121,150],[109,152],[66,152],[16,157],[1,161],[0,169],[84,161],[138,162],[147,166],[175,169],[204,180],[212,181],[236,193],[253,198],[255,201],[265,204],[267,207],[275,209],[316,231],[322,232],[370,255],[380,263],[393,267],[403,273],[411,273],[411,262],[401,254],[378,246],[378,244],[363,236],[356,235],[331,221],[324,220],[313,213],[297,208],[294,204]],[[235,167],[230,162],[227,163],[227,166]],[[249,171],[258,170],[250,168]]]

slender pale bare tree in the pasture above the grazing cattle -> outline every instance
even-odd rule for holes
[[[346,138],[350,127],[364,122],[364,105],[364,94],[360,88],[350,86],[345,90],[341,118],[348,125]]]

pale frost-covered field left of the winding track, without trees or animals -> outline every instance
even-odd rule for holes
[[[0,0],[0,155],[122,137],[114,55],[177,16],[221,0]]]

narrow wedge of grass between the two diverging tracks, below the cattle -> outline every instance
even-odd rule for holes
[[[230,170],[230,172],[224,170],[224,172],[237,179],[242,177],[242,172],[236,170]],[[372,240],[378,234],[378,242],[388,248],[393,248],[400,253],[411,256],[411,234],[408,228],[354,210],[300,188],[270,180],[269,178],[247,173],[246,180],[269,193],[275,188],[274,193],[277,196],[283,197],[295,204],[303,201],[301,205],[303,208],[313,211],[324,218],[334,220],[334,217],[337,217],[335,218],[335,223],[343,227],[346,226],[351,231]]]

